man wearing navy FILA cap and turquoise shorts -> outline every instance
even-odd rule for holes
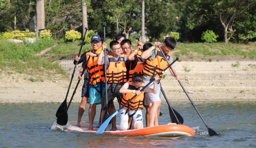
[[[88,130],[93,129],[93,120],[96,114],[97,104],[101,104],[103,92],[105,91],[104,84],[104,68],[102,65],[97,64],[98,54],[102,50],[102,41],[99,35],[95,34],[91,38],[92,50],[86,52],[86,58],[83,59],[82,68],[79,70],[81,74],[83,67],[87,68],[89,75],[89,128]],[[88,61],[88,62],[87,62]],[[87,63],[87,64],[86,64]],[[86,65],[85,65],[86,64]],[[78,79],[81,80],[81,75],[78,76]]]

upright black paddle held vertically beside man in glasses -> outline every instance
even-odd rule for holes
[[[103,40],[104,40],[104,43],[106,42],[106,32],[105,32],[105,27],[106,27],[106,25],[105,24],[103,24],[102,25],[102,27],[103,27]],[[104,49],[104,62],[105,62],[105,65],[106,65],[106,57],[107,57],[107,55],[106,55],[106,48]],[[106,111],[105,111],[105,114],[104,114],[104,116],[103,116],[103,118],[102,118],[102,122],[104,122],[106,119],[108,119],[109,118],[109,112],[108,112],[108,89],[107,89],[107,68],[106,68],[106,66],[104,66],[104,73],[105,73],[105,92],[106,92]]]

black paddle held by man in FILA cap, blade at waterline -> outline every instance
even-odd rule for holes
[[[84,71],[85,71],[85,69],[86,69],[85,67],[87,66],[87,63],[88,63],[89,59],[90,59],[90,57],[88,58],[88,60],[86,61],[85,65],[84,65],[84,67],[83,67],[83,71],[82,71],[82,73],[81,73],[81,77],[82,77],[83,74],[84,74]],[[73,97],[74,97],[74,95],[75,95],[75,93],[76,93],[76,90],[77,90],[77,87],[78,87],[79,83],[80,83],[80,80],[78,80],[78,82],[77,82],[76,88],[74,89],[74,92],[73,92],[73,94],[72,94],[72,97],[71,97],[71,99],[70,99],[70,101],[69,101],[69,103],[68,103],[67,109],[65,110],[65,112],[63,112],[63,113],[57,118],[57,124],[58,124],[58,125],[66,125],[66,124],[68,123],[68,108],[69,108],[69,106],[70,106],[70,104],[71,104],[71,101],[72,101],[72,99],[73,99]]]

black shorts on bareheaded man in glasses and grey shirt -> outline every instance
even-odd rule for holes
[[[116,88],[112,88],[112,84],[110,86],[108,86],[108,89],[107,89],[108,90],[107,91],[107,93],[108,93],[108,108],[109,108],[110,104],[113,103],[113,100],[114,100],[115,97],[117,98],[117,101],[119,103],[118,108],[120,108],[120,102],[123,99],[123,94],[119,92],[120,88],[121,88],[120,86],[116,87]],[[102,104],[102,109],[103,110],[106,110],[106,106],[107,106],[106,92],[105,91],[104,91],[103,104]]]

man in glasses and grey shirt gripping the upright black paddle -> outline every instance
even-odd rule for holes
[[[102,48],[106,48],[106,43],[103,43]],[[115,107],[113,104],[113,100],[116,97],[118,99],[118,103],[120,104],[123,94],[119,93],[121,86],[126,82],[126,67],[125,62],[127,61],[127,56],[121,54],[122,48],[118,41],[111,41],[110,48],[113,55],[108,55],[107,57],[103,57],[104,51],[102,50],[98,55],[98,65],[106,66],[106,75],[107,75],[107,95],[108,100],[106,100],[106,93],[104,92],[103,104],[102,104],[102,112],[101,112],[101,122],[105,115],[107,107],[109,108],[109,113],[113,114],[115,112]],[[106,58],[106,63],[105,59]],[[108,106],[107,106],[108,104]],[[116,117],[112,118],[113,130],[117,130],[116,128]]]

